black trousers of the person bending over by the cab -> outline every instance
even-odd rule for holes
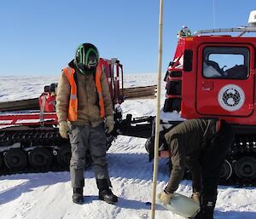
[[[201,164],[201,210],[207,211],[207,216],[213,214],[217,199],[218,178],[224,164],[224,158],[230,150],[234,133],[230,124],[221,122],[220,130],[202,150]],[[207,218],[206,216],[206,218]],[[211,218],[211,217],[209,217]]]

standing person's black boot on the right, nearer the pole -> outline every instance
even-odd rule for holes
[[[116,204],[118,202],[118,197],[114,195],[109,188],[109,180],[107,179],[96,179],[96,184],[99,189],[99,199],[107,202],[108,204]]]

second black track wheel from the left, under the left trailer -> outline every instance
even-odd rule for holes
[[[49,153],[49,150],[44,147],[32,149],[32,151],[28,153],[28,161],[35,168],[48,169],[51,164],[51,160],[51,153]]]

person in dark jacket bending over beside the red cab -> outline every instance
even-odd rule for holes
[[[213,219],[217,200],[218,177],[234,139],[230,124],[224,120],[195,118],[178,124],[160,135],[160,157],[171,158],[172,172],[159,199],[172,202],[173,193],[183,179],[185,166],[192,176],[192,199],[200,202],[195,219]],[[154,157],[154,141],[148,139],[149,161]],[[164,149],[166,148],[166,149]]]

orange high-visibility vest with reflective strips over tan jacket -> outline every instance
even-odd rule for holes
[[[104,100],[102,95],[102,84],[101,84],[102,65],[103,65],[103,61],[102,59],[100,59],[96,67],[95,83],[96,83],[96,90],[99,96],[100,117],[103,118],[105,117],[105,107],[104,107]],[[69,107],[67,112],[68,120],[77,121],[78,120],[78,89],[74,79],[75,70],[71,66],[67,66],[66,68],[62,69],[62,72],[67,77],[68,83],[70,84],[70,87],[71,87]]]

